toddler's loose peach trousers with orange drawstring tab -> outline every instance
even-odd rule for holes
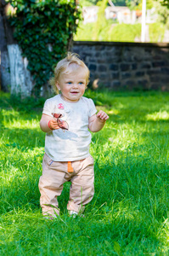
[[[71,165],[71,172],[68,163]],[[84,160],[58,162],[44,154],[42,176],[39,179],[43,215],[59,215],[57,197],[61,195],[63,184],[67,181],[71,182],[67,209],[83,212],[84,206],[93,199],[94,195],[93,157],[89,155]]]

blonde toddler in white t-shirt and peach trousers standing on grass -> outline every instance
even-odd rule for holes
[[[93,157],[89,154],[91,133],[100,131],[109,119],[97,110],[92,99],[83,94],[89,81],[89,70],[76,54],[68,53],[59,61],[51,79],[60,93],[48,99],[42,111],[41,130],[46,132],[42,176],[39,180],[42,214],[46,218],[59,215],[57,197],[63,184],[70,181],[70,214],[84,211],[93,199]]]

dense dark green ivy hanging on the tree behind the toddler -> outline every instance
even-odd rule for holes
[[[9,20],[14,26],[16,38],[28,69],[36,82],[34,93],[38,95],[57,61],[70,48],[76,32],[80,11],[74,0],[12,0],[15,14]]]

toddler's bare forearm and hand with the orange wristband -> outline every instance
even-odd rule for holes
[[[44,132],[49,132],[51,130],[56,130],[60,128],[57,120],[45,113],[42,113],[42,118],[40,120],[40,127],[41,127],[41,130]]]

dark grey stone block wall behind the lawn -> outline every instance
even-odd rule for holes
[[[169,91],[169,44],[74,42],[91,84],[112,90]]]

